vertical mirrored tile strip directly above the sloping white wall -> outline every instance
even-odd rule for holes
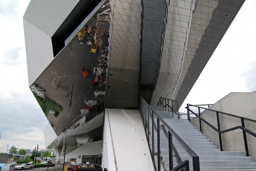
[[[141,1],[110,1],[107,108],[138,107]]]

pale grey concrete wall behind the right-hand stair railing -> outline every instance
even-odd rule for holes
[[[250,118],[256,120],[256,92],[250,93],[229,93],[217,103],[211,106],[209,109],[218,110],[221,112],[226,112],[229,114],[234,114],[236,116],[242,116],[245,118]],[[227,130],[229,128],[234,128],[236,126],[242,126],[241,119],[227,116],[225,114],[219,114],[220,116],[220,130]],[[207,120],[210,124],[217,127],[217,114],[216,112],[211,112],[206,110],[201,113],[201,116]],[[192,123],[199,128],[199,119],[193,118]],[[203,122],[202,122],[203,123]],[[256,133],[256,122],[249,122],[245,120],[245,128]],[[202,124],[203,134],[205,134],[217,147],[220,147],[219,137],[217,132],[209,128],[207,124]],[[256,137],[252,135],[247,135],[247,143],[249,147],[249,155],[254,157],[256,161],[256,150],[255,141]],[[222,147],[224,151],[245,151],[245,146],[243,143],[243,132],[242,130],[234,130],[232,132],[227,132],[221,135],[222,137]]]

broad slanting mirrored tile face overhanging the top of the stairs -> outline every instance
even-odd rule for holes
[[[240,1],[170,1],[159,78],[159,97],[182,105],[243,4]]]

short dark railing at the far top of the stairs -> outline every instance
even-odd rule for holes
[[[174,118],[174,114],[178,116],[178,119],[180,118],[180,114],[178,112],[178,101],[160,97],[157,106],[162,107],[162,109],[166,112],[172,112],[172,118]]]

